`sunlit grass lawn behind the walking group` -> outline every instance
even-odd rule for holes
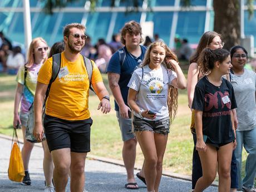
[[[103,74],[104,83],[109,89],[107,75]],[[13,105],[16,81],[14,76],[0,74],[0,133],[12,135]],[[110,90],[109,90],[110,92]],[[111,92],[110,92],[111,93]],[[91,153],[113,159],[122,159],[122,140],[119,125],[114,110],[114,98],[111,96],[112,110],[109,114],[102,114],[97,110],[99,99],[90,94],[89,108],[93,125],[91,129]],[[178,114],[171,125],[168,144],[164,157],[164,170],[191,175],[193,138],[190,133],[190,110],[186,90],[179,91]],[[21,138],[21,130],[18,130]],[[247,153],[243,151],[243,170]],[[143,155],[137,145],[136,164],[142,165]]]

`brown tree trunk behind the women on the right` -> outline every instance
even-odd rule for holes
[[[214,31],[221,34],[224,49],[240,44],[240,1],[213,0]]]

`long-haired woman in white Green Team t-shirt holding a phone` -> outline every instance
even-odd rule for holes
[[[164,42],[151,43],[128,84],[134,132],[145,158],[147,191],[159,189],[169,126],[178,107],[178,88],[186,88],[177,61]]]

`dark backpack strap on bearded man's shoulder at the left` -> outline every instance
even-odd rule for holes
[[[52,77],[50,79],[50,82],[49,82],[47,90],[46,90],[45,103],[46,103],[46,100],[50,93],[51,85],[57,78],[58,72],[60,72],[60,68],[61,68],[61,53],[57,53],[57,54],[52,55]]]

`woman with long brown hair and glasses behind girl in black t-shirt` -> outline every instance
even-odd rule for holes
[[[195,85],[198,81],[204,77],[201,73],[201,70],[198,65],[198,58],[200,53],[203,51],[204,48],[210,48],[211,50],[223,48],[224,42],[221,40],[221,35],[214,31],[208,31],[201,36],[198,47],[195,50],[195,53],[190,58],[190,66],[188,70],[188,101],[189,101],[189,108],[191,109],[191,105],[194,98],[194,91]],[[227,79],[229,79],[229,75],[227,75]],[[201,161],[198,154],[198,150],[195,148],[196,144],[196,132],[195,132],[195,117],[194,117],[194,110],[191,109],[191,125],[190,130],[193,134],[194,140],[194,150],[193,150],[193,165],[192,165],[192,189],[195,189],[196,181],[203,175],[202,168],[201,168]],[[236,120],[236,118],[235,118]],[[237,120],[236,120],[237,122]],[[235,161],[235,156],[232,156],[232,171],[231,171],[231,189],[230,191],[236,191],[238,187],[237,184],[237,165]]]

